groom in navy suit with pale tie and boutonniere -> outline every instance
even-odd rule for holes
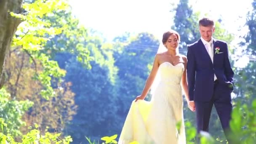
[[[196,112],[197,132],[208,132],[214,104],[228,138],[232,112],[231,92],[234,88],[234,72],[229,62],[228,46],[224,41],[213,39],[213,20],[201,19],[199,30],[200,40],[188,45],[187,52],[189,109]]]

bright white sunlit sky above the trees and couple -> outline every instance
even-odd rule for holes
[[[108,40],[124,32],[150,32],[162,35],[173,24],[171,4],[179,0],[71,0],[73,13],[86,28],[95,29]],[[189,0],[194,11],[209,13],[213,19],[223,20],[229,32],[245,23],[252,0]]]

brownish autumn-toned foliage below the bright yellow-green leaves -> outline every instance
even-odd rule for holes
[[[33,102],[33,106],[23,113],[22,120],[27,125],[37,123],[43,131],[46,127],[49,127],[50,132],[64,131],[65,125],[72,120],[72,115],[75,115],[76,111],[75,93],[70,90],[71,83],[55,82],[55,96],[46,100],[40,95],[43,85],[40,80],[34,79],[35,65],[29,63],[29,55],[26,52],[20,49],[11,51],[6,57],[6,64],[5,86],[11,93],[10,98]],[[43,67],[40,63],[36,64],[37,72],[42,72]],[[21,131],[26,133],[27,126],[22,127]]]

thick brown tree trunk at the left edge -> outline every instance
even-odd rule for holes
[[[20,19],[14,18],[10,12],[21,13],[22,0],[0,0],[0,88],[3,87],[5,78],[3,69],[5,55],[8,52],[13,35],[21,23]]]

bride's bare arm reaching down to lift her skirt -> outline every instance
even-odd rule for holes
[[[149,89],[151,88],[152,83],[155,80],[155,76],[157,75],[158,67],[159,67],[159,54],[156,54],[152,70],[149,74],[149,77],[147,78],[144,89],[143,89],[141,95],[137,96],[137,97],[139,97],[139,99],[144,99],[147,96],[147,93],[149,92]],[[136,98],[136,100],[137,100],[137,98]]]

